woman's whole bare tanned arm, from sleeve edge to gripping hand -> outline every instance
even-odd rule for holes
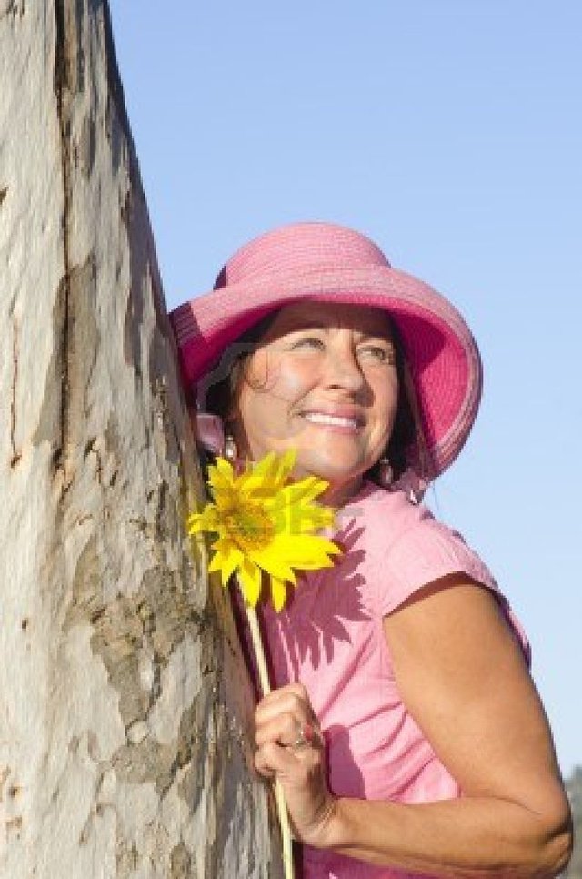
[[[546,716],[492,593],[465,576],[443,578],[386,617],[385,631],[406,706],[463,796],[414,805],[333,798],[323,754],[281,747],[285,732],[274,738],[275,696],[266,715],[257,712],[257,768],[279,774],[300,838],[408,872],[559,873],[571,847],[567,798]],[[286,713],[288,729],[301,711]]]

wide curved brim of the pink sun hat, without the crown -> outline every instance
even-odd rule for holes
[[[437,290],[395,268],[321,268],[277,272],[217,288],[170,315],[186,385],[197,384],[226,348],[257,321],[292,302],[382,308],[395,321],[423,414],[436,476],[457,457],[477,415],[482,368],[477,344],[457,308]]]

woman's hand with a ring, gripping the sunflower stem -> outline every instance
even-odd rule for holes
[[[255,766],[278,779],[293,832],[302,843],[321,844],[336,800],[326,783],[323,736],[301,683],[289,683],[259,702],[255,713]]]

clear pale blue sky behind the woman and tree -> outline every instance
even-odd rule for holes
[[[452,298],[485,362],[430,503],[533,643],[582,764],[582,4],[111,0],[168,308],[281,223],[326,219]]]

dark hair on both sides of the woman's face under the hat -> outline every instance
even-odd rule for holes
[[[246,330],[236,340],[234,356],[229,361],[221,361],[222,377],[216,381],[207,381],[205,409],[219,415],[228,424],[229,412],[248,358],[254,352],[268,328],[275,319],[277,311],[266,315],[253,327]],[[419,475],[430,479],[433,475],[430,454],[426,445],[422,423],[422,413],[416,400],[410,372],[406,363],[404,343],[393,319],[390,318],[392,341],[396,354],[396,375],[398,378],[398,405],[396,418],[390,434],[386,458],[390,461],[394,479],[397,480],[407,468],[413,464]],[[207,379],[206,379],[207,380]],[[367,471],[368,479],[379,482],[379,464]]]

